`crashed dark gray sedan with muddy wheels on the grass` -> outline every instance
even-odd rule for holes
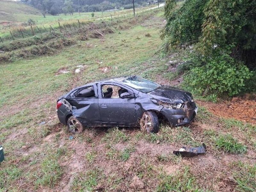
[[[191,93],[140,76],[86,84],[57,101],[58,118],[72,133],[81,133],[86,126],[138,126],[157,133],[159,121],[185,125],[196,112]]]

